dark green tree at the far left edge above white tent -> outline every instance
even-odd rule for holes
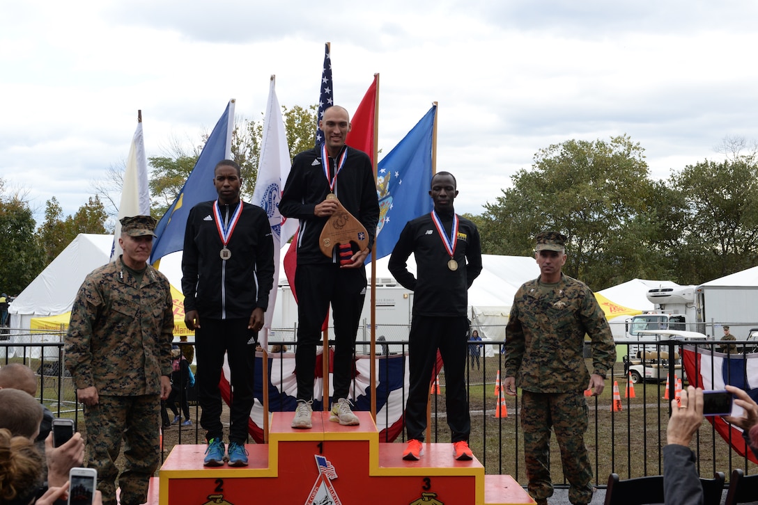
[[[6,195],[0,179],[0,289],[17,295],[45,267],[45,252],[34,232],[36,223],[27,201]]]

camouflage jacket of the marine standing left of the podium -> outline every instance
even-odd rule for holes
[[[79,288],[65,345],[66,368],[79,388],[98,394],[160,394],[171,376],[174,307],[168,279],[148,265],[142,283],[119,257]]]

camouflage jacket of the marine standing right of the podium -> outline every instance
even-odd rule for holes
[[[592,340],[593,373],[605,376],[615,362],[610,326],[584,282],[561,274],[543,295],[540,279],[516,292],[506,326],[506,377],[535,393],[581,391],[590,383],[584,335]]]

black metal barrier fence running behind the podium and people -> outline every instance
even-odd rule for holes
[[[407,358],[407,340],[393,338],[390,330],[390,328],[377,328],[376,335],[384,335],[384,341],[377,343],[377,354],[387,351],[398,357]],[[481,333],[487,335],[488,332],[485,329]],[[59,366],[62,363],[63,353],[62,335],[49,332],[46,335],[48,337],[45,341],[36,341],[39,340],[36,338],[37,335],[16,332],[12,340],[0,340],[0,365],[17,362],[30,366],[39,376],[40,401],[56,416],[75,419],[77,429],[84,431],[86,427],[83,426],[83,422],[79,423],[83,421],[83,416],[81,407],[76,401],[74,385],[67,372]],[[54,339],[51,335],[55,335],[58,341],[51,341]],[[368,339],[362,339],[362,336],[365,335],[359,334],[356,353],[368,354],[371,344]],[[180,346],[193,345],[192,342],[175,343]],[[730,343],[737,345],[737,351],[734,354],[728,354],[727,362],[731,363],[730,366],[735,369],[739,368],[741,361],[747,363],[748,357],[758,356],[743,354],[744,351],[752,350],[752,346],[755,345],[753,341],[738,340]],[[293,359],[292,341],[269,341],[269,344],[270,346],[286,344],[290,347],[288,353],[269,354],[272,360]],[[472,360],[469,355],[466,361],[466,382],[471,412],[469,441],[471,449],[484,464],[487,474],[509,474],[518,482],[525,482],[524,454],[519,433],[520,397],[496,394],[498,381],[502,379],[500,371],[504,368],[503,343],[501,341],[469,341],[469,344],[482,346],[478,348],[478,360],[475,358]],[[669,355],[677,357],[676,354],[681,355],[681,344],[681,341],[646,343],[643,351],[655,351],[661,356],[670,353]],[[385,345],[387,347],[384,347]],[[697,348],[706,351],[718,345],[717,341],[697,342]],[[666,399],[666,379],[675,376],[669,373],[678,375],[682,373],[675,359],[664,359],[655,363],[650,362],[651,366],[662,366],[665,369],[660,375],[662,379],[631,382],[628,363],[622,358],[629,354],[636,354],[635,351],[638,350],[635,347],[636,344],[628,341],[617,342],[619,360],[609,373],[605,391],[600,397],[587,397],[590,427],[585,441],[590,450],[590,460],[594,464],[594,484],[600,488],[605,487],[611,472],[618,473],[622,479],[662,474],[662,447],[666,444],[666,424],[670,410],[670,401]],[[587,348],[585,358],[587,366],[591,369],[589,354]],[[407,359],[405,366],[407,373]],[[744,368],[747,369],[747,366]],[[444,369],[440,369],[437,380],[439,391],[430,394],[431,418],[428,441],[449,442]],[[686,387],[686,376],[684,380],[684,387]],[[669,397],[673,397],[675,381],[668,382]],[[618,397],[614,398],[614,394],[618,394]],[[191,394],[190,397],[192,397]],[[402,401],[405,401],[405,394],[402,395]],[[619,407],[619,404],[620,409],[615,408]],[[269,407],[271,410],[276,410],[274,404]],[[199,407],[196,402],[191,402],[190,410],[193,426],[179,424],[164,432],[164,457],[168,455],[168,451],[174,444],[204,443],[204,434],[199,428]],[[405,441],[404,437],[405,434],[402,432],[395,442]],[[703,477],[710,478],[714,472],[724,472],[728,478],[731,470],[735,468],[744,469],[747,474],[758,472],[758,466],[748,460],[746,455],[741,456],[731,449],[728,441],[725,441],[708,422],[703,422],[692,447],[697,453],[697,465]],[[553,480],[561,485],[560,453],[554,438],[551,441],[550,454],[553,455],[550,463]],[[562,484],[566,483],[562,482]]]

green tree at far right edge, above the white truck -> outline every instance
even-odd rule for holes
[[[688,165],[672,174],[669,189],[682,195],[686,264],[679,267],[688,282],[706,282],[758,263],[758,164],[753,154]]]

